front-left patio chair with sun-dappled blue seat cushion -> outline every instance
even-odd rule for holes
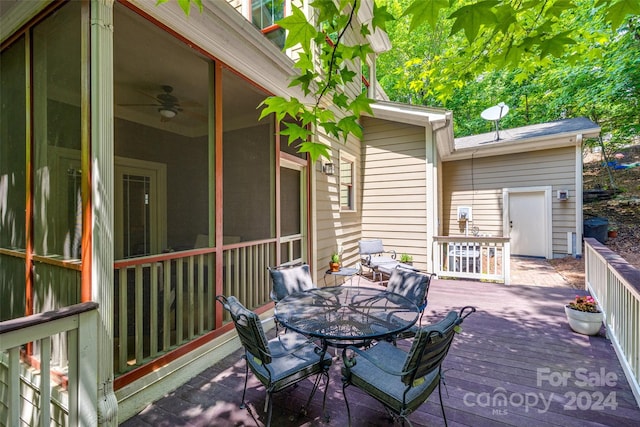
[[[258,315],[244,307],[236,297],[230,296],[226,298],[224,295],[218,295],[216,300],[231,315],[245,350],[242,356],[246,364],[240,408],[246,407],[244,399],[247,392],[249,368],[251,368],[251,372],[267,389],[264,409],[267,412],[267,426],[271,424],[272,394],[313,375],[316,376],[313,389],[301,413],[306,413],[306,408],[318,389],[322,377],[325,378],[324,397],[322,400],[322,412],[324,413],[331,356],[326,352],[322,352],[321,348],[313,341],[296,332],[287,332],[267,340]]]

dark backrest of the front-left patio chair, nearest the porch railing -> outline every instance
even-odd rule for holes
[[[262,364],[271,363],[269,341],[262,328],[260,317],[242,305],[234,296],[227,298],[224,295],[218,295],[216,300],[231,314],[244,349],[259,359]]]

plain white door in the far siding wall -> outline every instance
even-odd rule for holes
[[[546,257],[549,236],[544,191],[510,191],[508,225],[513,255]]]

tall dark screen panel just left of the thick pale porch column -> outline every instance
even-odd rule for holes
[[[79,259],[80,2],[70,2],[33,30],[34,251]]]

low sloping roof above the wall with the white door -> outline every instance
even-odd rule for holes
[[[597,137],[600,126],[586,117],[577,117],[501,129],[498,134],[497,141],[495,132],[455,138],[454,150],[440,154],[443,160],[460,160],[572,146],[584,138]]]

